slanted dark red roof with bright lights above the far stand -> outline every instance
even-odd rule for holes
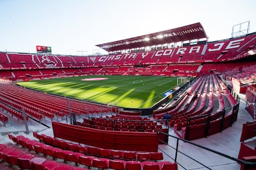
[[[173,28],[171,30],[98,44],[96,46],[101,49],[105,49],[105,51],[113,52],[201,38],[207,38],[207,34],[205,33],[205,30],[203,30],[201,23],[198,22],[191,25],[181,26],[179,28]]]

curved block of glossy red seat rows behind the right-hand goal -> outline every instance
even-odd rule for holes
[[[197,110],[193,111],[192,113],[189,113],[190,111],[187,111],[187,113],[184,113],[182,115],[176,114],[176,116],[178,116],[178,119],[171,119],[170,121],[170,125],[174,126],[174,132],[179,137],[185,137],[185,139],[190,140],[205,137],[216,132],[220,132],[223,129],[226,129],[226,127],[231,126],[231,124],[236,119],[236,113],[234,113],[234,118],[231,118],[232,116],[230,116],[230,114],[232,114],[232,111],[229,111],[228,114],[223,115],[223,110],[226,104],[223,96],[228,99],[231,106],[236,105],[237,102],[234,97],[229,93],[228,89],[226,89],[226,86],[222,83],[221,79],[214,74],[208,75],[207,79],[208,80],[205,83],[202,83],[205,85],[200,88],[199,94],[202,95],[200,95],[201,100]],[[218,100],[218,110],[216,110],[214,113],[211,113],[214,105],[214,92],[216,94],[216,100]],[[208,104],[206,104],[205,100],[207,95]],[[194,108],[194,104],[195,101],[192,107],[190,107],[190,110]],[[203,110],[205,105],[207,105],[207,108]],[[224,116],[223,121],[225,124],[225,126],[223,127],[220,124],[222,116]],[[189,120],[187,120],[187,118],[189,118]],[[206,127],[210,128],[210,130],[206,129]],[[182,134],[178,132],[181,129]],[[186,129],[189,130],[186,131]]]

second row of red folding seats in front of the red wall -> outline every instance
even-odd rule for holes
[[[54,159],[59,158],[64,161],[74,162],[76,166],[78,164],[83,164],[88,168],[102,168],[102,169],[143,169],[143,170],[153,170],[153,169],[177,169],[176,163],[171,163],[169,161],[125,161],[109,158],[99,158],[96,156],[84,155],[83,153],[72,152],[70,150],[62,150],[61,148],[54,148],[50,145],[37,142],[36,140],[30,140],[24,136],[13,136],[9,134],[9,138],[12,139],[17,144],[32,148],[36,153],[43,153],[45,156],[52,156]],[[45,158],[38,161],[44,161]],[[153,169],[152,169],[153,168]]]

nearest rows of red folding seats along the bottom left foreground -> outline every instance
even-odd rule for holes
[[[130,160],[119,160],[116,158],[100,158],[96,156],[85,155],[79,152],[72,152],[70,150],[62,150],[61,148],[51,147],[50,145],[43,144],[36,140],[30,140],[27,137],[22,135],[14,136],[9,134],[9,138],[21,145],[22,147],[28,148],[37,154],[43,154],[45,158],[32,158],[33,156],[27,156],[28,164],[31,163],[32,169],[45,169],[45,167],[54,167],[55,169],[66,169],[66,167],[71,167],[69,164],[59,164],[59,162],[54,161],[55,159],[64,160],[65,163],[72,162],[75,163],[75,167],[71,169],[82,169],[79,167],[79,164],[86,166],[88,169],[91,168],[102,168],[102,169],[138,169],[138,170],[147,170],[147,169],[177,169],[176,163],[171,163],[169,161],[130,161]],[[2,149],[1,149],[2,148]],[[0,145],[0,156],[7,155],[7,153],[14,152],[14,148],[9,148],[8,150],[5,145]],[[2,151],[4,150],[4,151]],[[23,155],[22,152],[14,152],[11,155]],[[10,155],[10,154],[9,154]],[[47,160],[46,156],[51,156],[53,160]],[[9,156],[8,156],[9,157]],[[18,157],[18,156],[17,156]],[[7,160],[7,159],[6,159]],[[15,162],[15,161],[13,161]],[[54,169],[52,168],[52,169]],[[83,169],[87,169],[83,168]],[[30,169],[30,168],[28,168]]]

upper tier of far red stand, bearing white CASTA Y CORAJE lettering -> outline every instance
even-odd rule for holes
[[[101,68],[124,65],[152,65],[177,63],[207,63],[223,62],[240,59],[250,54],[245,52],[255,49],[256,34],[223,41],[208,42],[207,44],[160,49],[150,52],[136,52],[131,54],[112,54],[97,56],[68,56],[1,53],[0,68],[28,69],[28,68]],[[197,67],[175,68],[174,70],[196,71]],[[85,72],[85,71],[83,71]],[[95,71],[94,71],[95,72]]]

